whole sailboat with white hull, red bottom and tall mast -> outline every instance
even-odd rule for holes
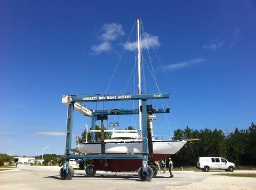
[[[138,94],[141,94],[141,47],[140,47],[140,19],[137,19],[137,37],[138,37]],[[141,107],[141,100],[139,100],[139,108]],[[142,153],[142,139],[141,136],[141,111],[139,114],[139,132],[137,130],[105,130],[106,132],[112,132],[111,138],[104,140],[105,154],[141,154]],[[153,136],[153,120],[155,115],[149,115],[149,125],[151,129],[150,135]],[[92,132],[92,130],[91,130]],[[93,130],[93,132],[100,132]],[[161,160],[167,157],[171,157],[172,154],[178,152],[188,140],[158,140],[152,137],[153,154],[149,154],[149,166],[155,165],[155,161]],[[79,152],[84,154],[101,154],[102,146],[101,142],[77,142],[76,148]],[[148,150],[149,152],[149,150]],[[96,170],[104,171],[135,171],[141,167],[141,160],[132,159],[109,159],[109,160],[92,160],[87,175],[94,175]],[[154,169],[154,167],[153,167]],[[157,171],[156,171],[157,172]]]

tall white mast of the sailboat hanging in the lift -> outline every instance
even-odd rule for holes
[[[140,69],[140,19],[137,19],[137,38],[138,38],[138,94],[141,94],[141,69]],[[139,109],[141,107],[141,100],[139,100]],[[140,137],[142,134],[142,113],[139,110],[139,127],[140,127]]]

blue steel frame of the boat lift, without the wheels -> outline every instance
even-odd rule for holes
[[[141,159],[142,160],[142,172],[148,172],[148,153],[147,153],[147,100],[148,99],[164,99],[169,98],[169,94],[118,94],[118,95],[108,95],[103,96],[89,95],[89,96],[77,96],[70,95],[68,102],[68,114],[67,114],[67,128],[66,128],[66,165],[63,165],[64,169],[68,172],[69,159],[76,159],[77,161],[82,161],[84,159]],[[142,154],[141,155],[125,155],[125,154],[98,154],[98,155],[71,155],[71,138],[73,129],[73,113],[75,102],[94,102],[94,101],[120,101],[120,100],[142,100]],[[138,114],[139,110],[122,110],[123,114]],[[158,109],[156,113],[169,113],[170,109]],[[95,129],[95,121],[97,115],[112,115],[106,111],[93,111],[92,112],[92,129]],[[94,132],[91,135],[91,140],[94,140]]]

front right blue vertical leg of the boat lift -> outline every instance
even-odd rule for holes
[[[147,100],[142,99],[142,170],[148,172],[148,151],[147,151]]]

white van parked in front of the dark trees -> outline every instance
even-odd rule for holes
[[[197,158],[196,167],[202,171],[209,171],[209,169],[223,169],[225,171],[233,172],[235,163],[227,161],[221,157],[199,157]]]

